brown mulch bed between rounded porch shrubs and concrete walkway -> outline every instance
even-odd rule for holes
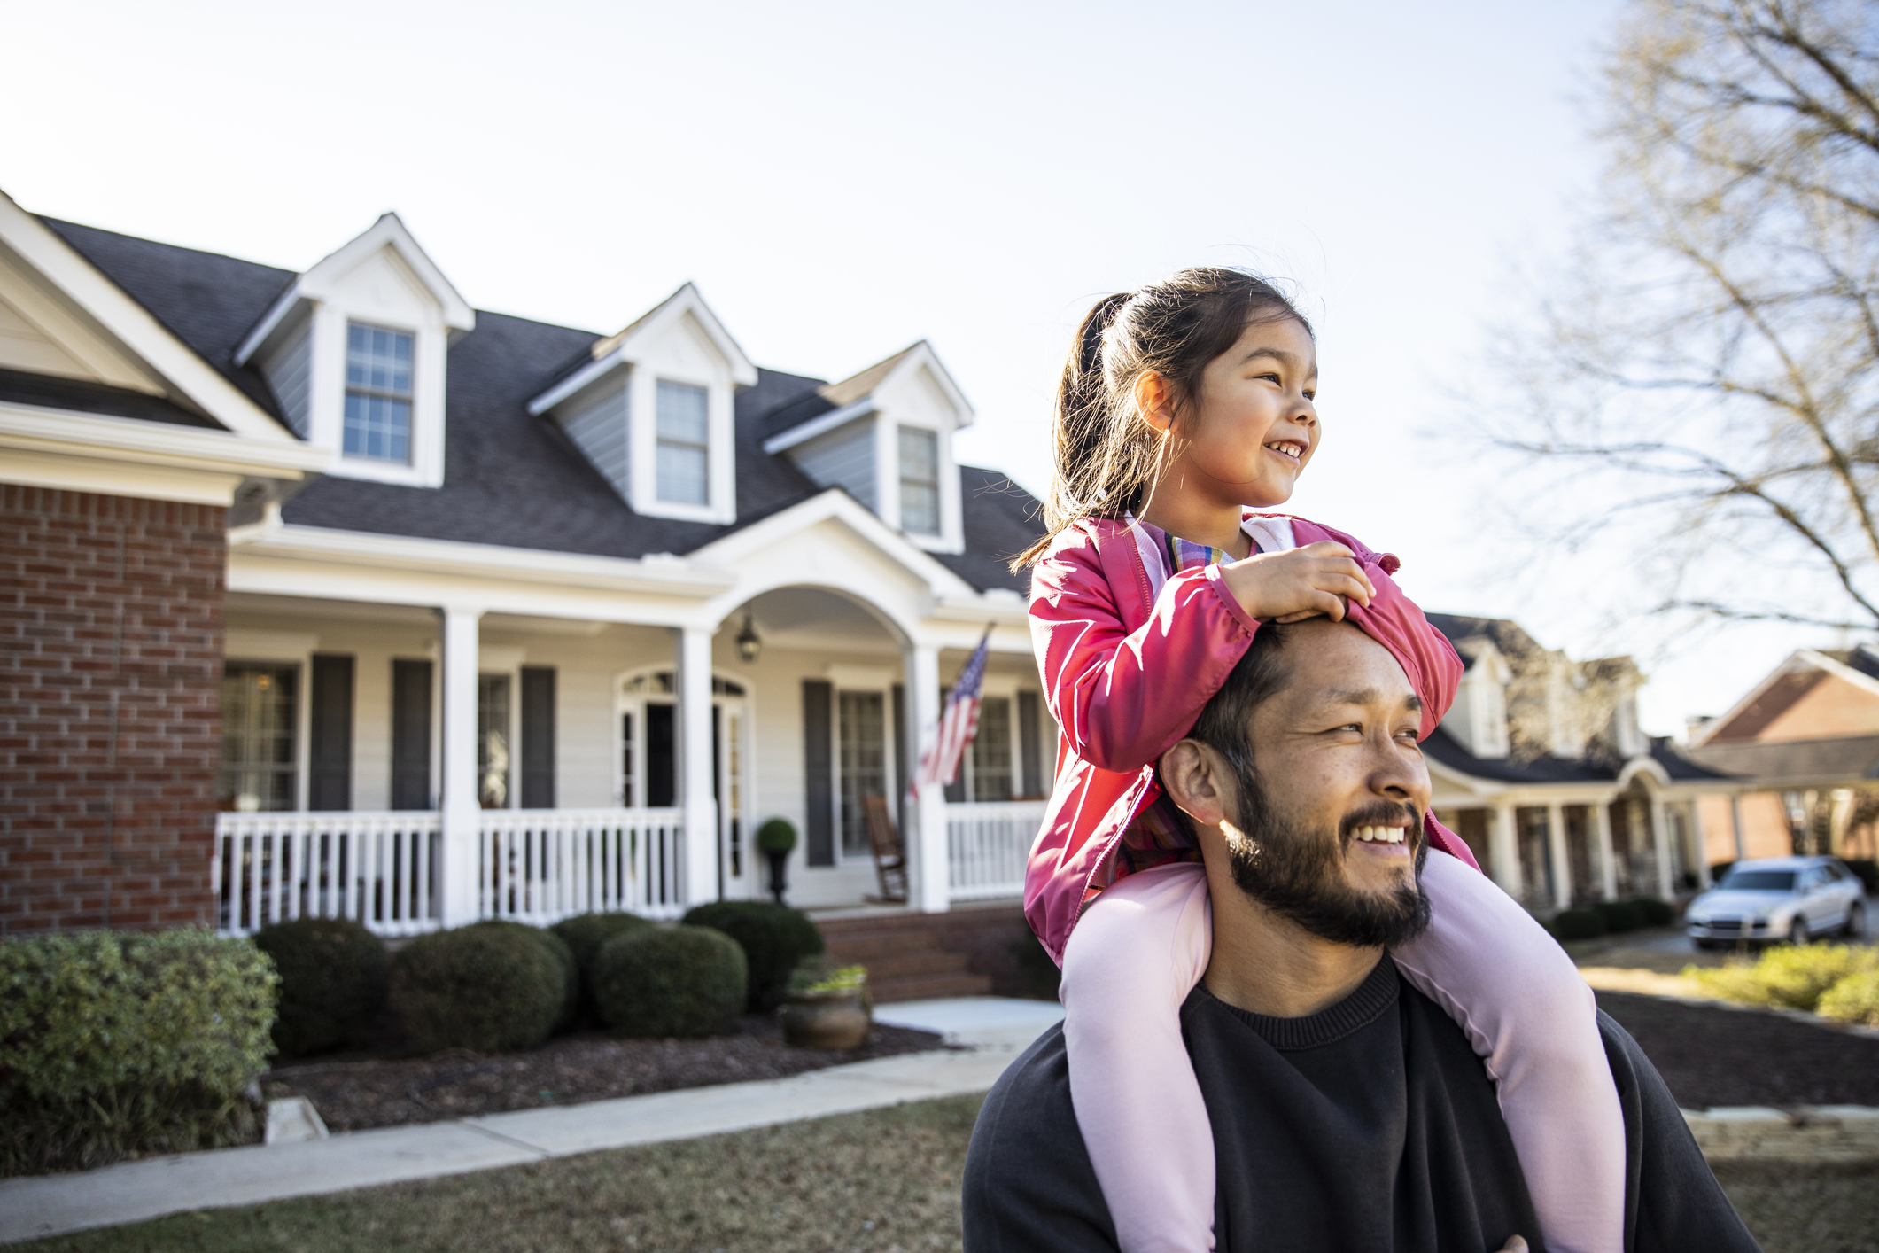
[[[306,1097],[331,1131],[474,1118],[579,1105],[675,1088],[787,1078],[831,1065],[943,1048],[932,1031],[876,1024],[861,1048],[789,1048],[772,1014],[748,1014],[740,1035],[629,1041],[594,1031],[517,1054],[447,1050],[428,1058],[291,1060],[261,1076],[265,1097]]]

